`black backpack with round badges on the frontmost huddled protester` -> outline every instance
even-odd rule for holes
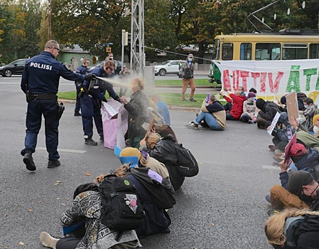
[[[102,223],[105,226],[116,231],[134,230],[142,226],[144,209],[130,179],[107,175],[98,191],[102,197]]]

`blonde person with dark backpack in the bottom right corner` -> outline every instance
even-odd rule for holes
[[[265,233],[276,249],[318,249],[319,212],[285,209],[266,221]]]

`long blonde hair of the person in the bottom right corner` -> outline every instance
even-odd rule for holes
[[[283,234],[283,229],[285,227],[286,218],[303,216],[305,214],[319,216],[319,212],[310,211],[309,209],[300,210],[297,208],[287,208],[281,213],[271,216],[265,223],[265,233],[268,243],[270,245],[282,245],[285,243],[286,237]]]

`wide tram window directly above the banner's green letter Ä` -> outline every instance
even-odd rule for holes
[[[307,58],[307,43],[283,43],[283,60],[304,60]]]

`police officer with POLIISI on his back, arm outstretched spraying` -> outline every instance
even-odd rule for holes
[[[21,151],[26,169],[36,170],[32,154],[36,151],[38,132],[41,127],[42,115],[45,122],[45,144],[48,151],[48,168],[60,166],[58,153],[59,78],[67,80],[92,80],[95,76],[80,75],[65,68],[63,63],[56,60],[60,46],[50,40],[45,44],[45,50],[29,59],[23,70],[21,89],[26,93],[28,111],[26,115],[25,148]]]

